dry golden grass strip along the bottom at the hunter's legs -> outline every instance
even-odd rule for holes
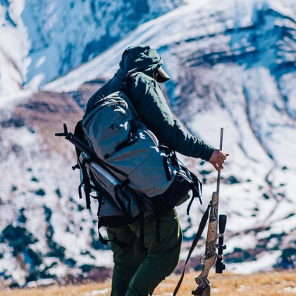
[[[190,296],[195,290],[196,273],[187,273],[179,296]],[[295,296],[296,271],[283,271],[273,273],[257,273],[249,276],[225,273],[223,275],[211,274],[213,296]],[[170,276],[164,280],[154,295],[169,296],[178,282],[178,276]],[[89,283],[87,285],[51,286],[49,288],[0,290],[1,296],[109,296],[111,281],[106,283]],[[293,289],[294,288],[294,289]],[[99,291],[101,290],[101,291]]]

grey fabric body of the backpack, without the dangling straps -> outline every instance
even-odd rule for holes
[[[190,173],[178,164],[174,152],[161,145],[153,132],[141,123],[124,92],[115,92],[99,100],[85,114],[82,128],[91,149],[109,167],[116,180],[106,180],[106,171],[102,172],[95,163],[90,164],[93,178],[109,193],[102,197],[99,216],[125,214],[135,218],[141,207],[149,214],[154,206],[161,207],[156,199],[164,199],[164,193],[174,181],[182,190],[179,194],[175,192],[179,196],[171,197],[172,206],[169,207],[190,197],[194,185]],[[83,161],[83,154],[80,158]]]

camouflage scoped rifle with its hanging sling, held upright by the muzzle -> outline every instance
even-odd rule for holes
[[[221,128],[221,135],[220,135],[220,150],[222,150],[222,144],[223,144],[223,128]],[[193,250],[195,249],[197,242],[199,241],[199,238],[202,236],[202,232],[204,231],[204,228],[206,226],[206,221],[208,221],[208,218],[209,218],[209,226],[208,226],[208,232],[206,235],[206,252],[204,256],[202,256],[201,258],[203,269],[202,269],[202,272],[199,274],[199,276],[195,278],[195,281],[198,286],[196,290],[192,291],[192,295],[197,295],[197,296],[211,295],[211,282],[209,281],[208,276],[209,276],[209,271],[211,267],[214,265],[215,261],[216,261],[216,273],[223,273],[223,270],[226,269],[226,266],[223,261],[223,250],[226,249],[226,245],[223,245],[224,232],[225,232],[226,220],[227,220],[226,215],[219,215],[219,218],[218,218],[219,235],[217,233],[220,180],[221,180],[221,171],[218,171],[217,190],[216,192],[213,192],[211,201],[209,202],[209,205],[206,211],[204,212],[204,215],[202,216],[202,220],[199,224],[197,234],[195,235],[195,239],[192,242],[192,245],[188,252],[187,259],[185,261],[185,266],[183,269],[182,276],[180,277],[180,280],[177,286],[175,287],[173,296],[177,295],[177,292],[185,276],[185,268],[186,268],[187,262],[189,261],[190,256]],[[219,240],[217,244],[218,237],[219,237]],[[216,249],[218,249],[218,254],[216,254]]]

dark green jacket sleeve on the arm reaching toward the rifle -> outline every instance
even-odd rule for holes
[[[160,142],[180,154],[209,161],[214,147],[183,130],[155,80],[135,79],[130,87],[130,99],[144,125]]]

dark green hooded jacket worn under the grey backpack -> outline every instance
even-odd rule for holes
[[[148,46],[129,47],[123,52],[119,70],[114,77],[95,92],[87,103],[87,110],[101,98],[121,90],[128,73],[137,71],[128,83],[128,97],[144,125],[152,130],[160,142],[186,156],[209,161],[214,147],[183,130],[166,104],[159,84],[154,80],[156,68],[163,60]]]

